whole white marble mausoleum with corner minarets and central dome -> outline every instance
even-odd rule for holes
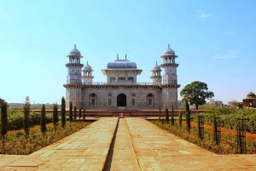
[[[119,59],[108,62],[107,68],[102,69],[107,77],[106,83],[93,82],[93,70],[87,64],[81,64],[83,58],[80,51],[74,46],[67,55],[67,83],[66,105],[73,102],[78,109],[102,110],[145,110],[166,108],[177,109],[177,55],[170,48],[160,56],[163,62],[160,66],[155,63],[151,72],[150,83],[137,83],[137,76],[142,69],[131,60]],[[88,59],[90,60],[90,59]],[[163,71],[161,73],[161,71]]]

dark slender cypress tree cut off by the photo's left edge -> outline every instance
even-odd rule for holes
[[[2,101],[1,105],[1,135],[3,140],[3,154],[4,152],[4,135],[7,133],[7,103],[5,101]]]

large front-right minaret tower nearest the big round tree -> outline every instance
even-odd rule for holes
[[[163,59],[163,64],[160,67],[163,69],[163,79],[162,79],[162,107],[166,106],[171,109],[172,105],[175,109],[177,109],[177,88],[180,87],[177,84],[177,66],[175,63],[175,59],[177,55],[170,48],[170,44],[168,44],[168,48],[164,51],[164,54],[161,56]]]

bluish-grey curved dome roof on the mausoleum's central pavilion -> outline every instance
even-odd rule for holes
[[[108,62],[108,69],[137,69],[135,62],[130,60],[113,60],[113,62]]]

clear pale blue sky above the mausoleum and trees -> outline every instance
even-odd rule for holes
[[[143,69],[137,82],[151,82],[150,70],[170,43],[178,92],[201,81],[225,104],[256,93],[253,0],[0,0],[0,16],[0,97],[8,102],[28,95],[32,103],[61,103],[74,43],[94,82],[107,81],[101,70],[117,53]]]

